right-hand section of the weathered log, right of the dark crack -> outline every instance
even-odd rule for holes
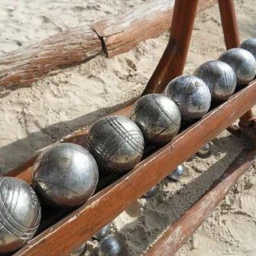
[[[197,12],[215,5],[217,0],[199,0]],[[186,1],[189,5],[190,1]],[[190,11],[187,8],[187,11]],[[139,42],[158,37],[170,29],[173,17],[173,5],[170,0],[158,0],[125,11],[113,18],[99,21],[92,29],[102,37],[109,57],[131,50]],[[184,16],[185,17],[185,16]],[[183,17],[183,18],[184,18]],[[180,24],[178,24],[180,29]],[[183,33],[183,29],[180,29]]]

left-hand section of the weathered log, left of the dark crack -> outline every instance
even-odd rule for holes
[[[85,26],[53,35],[0,57],[0,91],[29,86],[50,71],[81,63],[102,51],[102,42]]]

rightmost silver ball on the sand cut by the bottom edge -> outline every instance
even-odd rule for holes
[[[103,238],[98,247],[99,256],[121,256],[122,243],[114,237]]]

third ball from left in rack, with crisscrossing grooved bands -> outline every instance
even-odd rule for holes
[[[92,125],[87,148],[103,173],[126,173],[141,160],[144,138],[133,121],[112,115]]]

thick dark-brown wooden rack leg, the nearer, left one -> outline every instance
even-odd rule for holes
[[[171,79],[183,74],[199,0],[176,0],[170,41],[142,95],[164,91]]]

